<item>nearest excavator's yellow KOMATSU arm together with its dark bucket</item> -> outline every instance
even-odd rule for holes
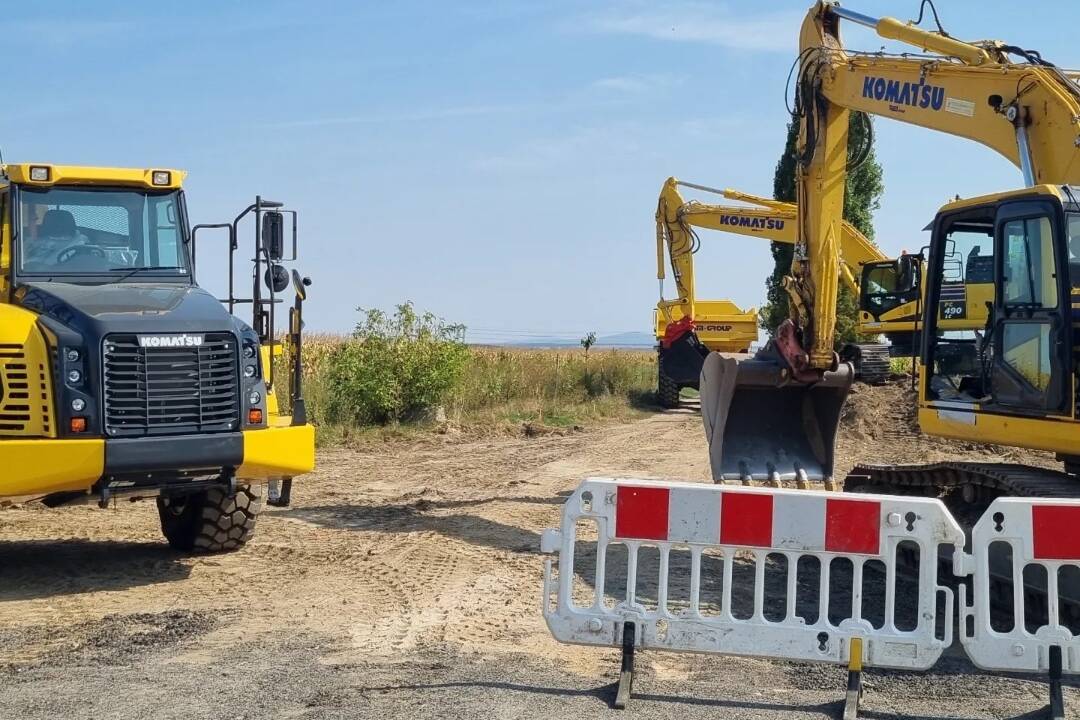
[[[922,54],[849,51],[841,19]],[[985,145],[1018,166],[1028,186],[1080,182],[1076,73],[1003,42],[963,42],[819,0],[799,36],[797,243],[784,282],[792,317],[755,358],[714,353],[702,369],[702,418],[718,481],[832,485],[851,375],[833,348],[853,110]]]

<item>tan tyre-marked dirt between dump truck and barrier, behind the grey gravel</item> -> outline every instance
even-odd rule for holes
[[[539,536],[563,497],[590,474],[700,475],[700,452],[665,459],[701,435],[691,415],[658,415],[569,435],[321,451],[294,507],[266,512],[247,548],[213,557],[168,551],[152,504],[3,510],[0,627],[237,610],[235,633],[283,617],[363,655],[519,651],[542,627]]]

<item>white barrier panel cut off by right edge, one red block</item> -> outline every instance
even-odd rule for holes
[[[960,586],[960,639],[975,665],[1080,673],[1080,501],[995,500],[963,574],[972,593]]]

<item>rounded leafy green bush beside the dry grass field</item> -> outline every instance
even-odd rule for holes
[[[320,421],[386,424],[437,406],[461,379],[464,327],[413,304],[364,310],[350,338],[323,363]]]

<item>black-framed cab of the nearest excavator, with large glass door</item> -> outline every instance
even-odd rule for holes
[[[1075,453],[1068,228],[1080,218],[1076,198],[1067,187],[1037,186],[950,203],[939,213],[923,314],[919,422],[926,432]],[[985,327],[968,337],[943,328],[937,312],[947,302],[944,250],[964,235],[994,248],[995,277]]]

